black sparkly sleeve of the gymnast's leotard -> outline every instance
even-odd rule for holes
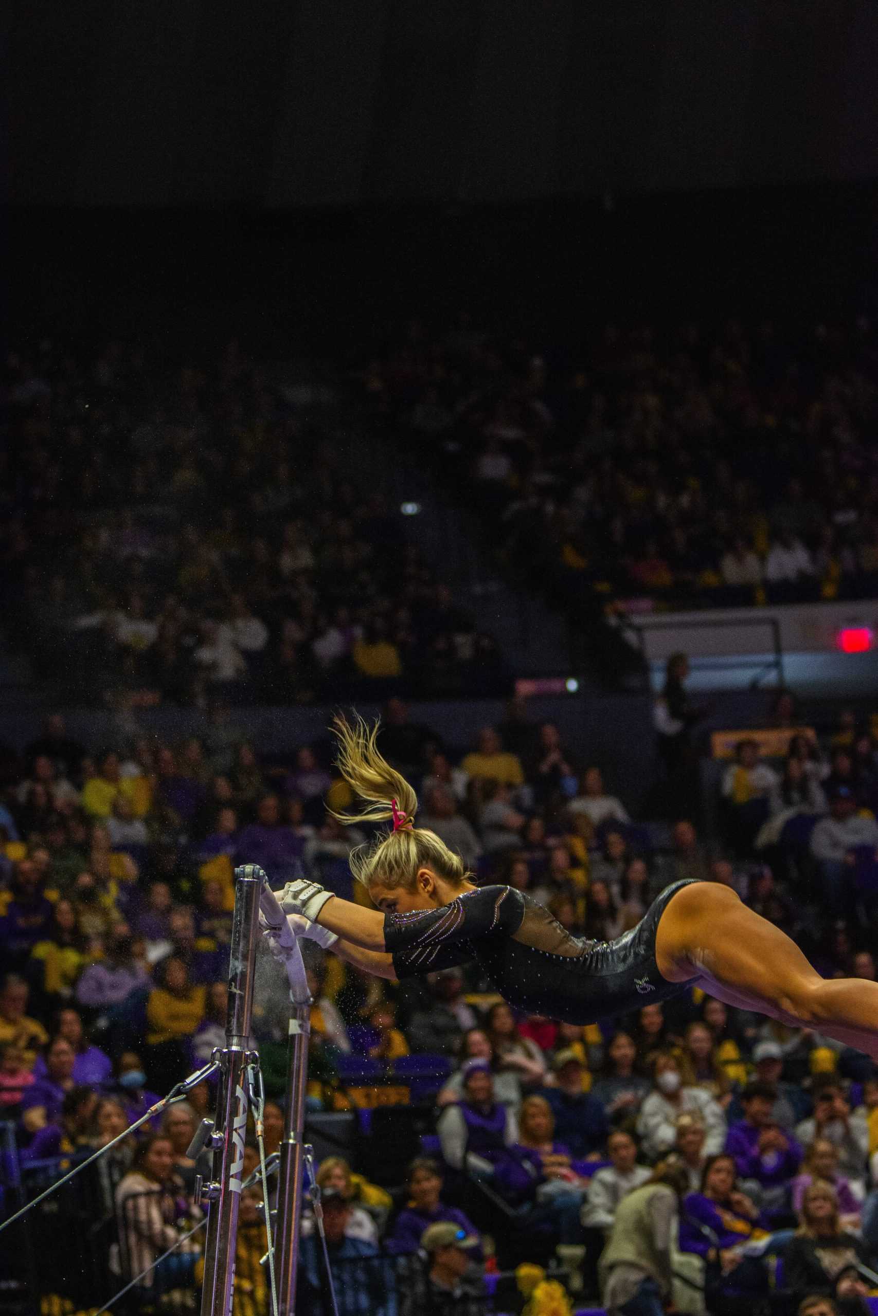
[[[512,887],[467,891],[437,909],[384,915],[384,948],[398,978],[452,969],[474,958],[473,944],[492,934],[511,936],[524,917],[524,901]]]

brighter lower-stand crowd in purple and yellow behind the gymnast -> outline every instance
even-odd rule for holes
[[[733,887],[824,975],[877,976],[878,759],[853,712],[825,740],[791,730],[781,761],[742,737],[713,840],[690,817],[632,817],[602,765],[523,700],[466,746],[394,697],[379,744],[419,790],[419,825],[479,882],[529,892],[575,933],[616,937],[695,876]],[[269,759],[222,704],[180,744],[132,730],[82,745],[53,716],[4,757],[0,1108],[25,1175],[125,1134],[222,1044],[234,865],[350,894],[348,855],[367,829],[329,812],[350,803],[328,744]],[[561,1263],[574,1294],[634,1316],[671,1292],[681,1311],[775,1291],[862,1311],[878,1254],[878,1074],[862,1054],[698,990],[579,1028],[516,1016],[473,967],[396,986],[308,955],[309,1109],[365,1121],[359,1153],[319,1170],[345,1312],[484,1312],[491,1275],[523,1261]],[[255,1023],[269,1152],[286,1099],[279,1001],[263,991]],[[199,1084],[117,1144],[101,1202],[120,1221],[120,1274],[180,1241],[151,1283],[196,1283],[187,1148],[213,1095]],[[249,1174],[251,1136],[246,1155]],[[261,1202],[247,1190],[240,1316],[265,1308],[246,1252]],[[319,1311],[311,1220],[305,1234],[303,1292]]]

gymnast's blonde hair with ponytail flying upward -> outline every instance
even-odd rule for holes
[[[392,822],[391,832],[382,832],[351,851],[349,862],[354,878],[367,888],[413,891],[419,869],[430,869],[452,884],[461,884],[469,874],[459,854],[449,850],[436,832],[415,828],[417,795],[378,749],[379,725],[378,721],[370,725],[358,713],[350,721],[341,713],[333,717],[338,771],[354,795],[365,801],[365,807],[333,812],[333,817],[345,824]]]

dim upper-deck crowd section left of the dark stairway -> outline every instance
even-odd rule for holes
[[[502,688],[328,386],[236,343],[200,367],[43,341],[1,390],[0,599],[38,675],[178,704]]]

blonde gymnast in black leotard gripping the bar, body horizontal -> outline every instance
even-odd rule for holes
[[[390,979],[475,959],[511,1005],[571,1024],[698,986],[728,1005],[813,1028],[878,1059],[878,983],[820,978],[795,942],[728,887],[675,882],[615,941],[574,937],[513,887],[477,887],[459,855],[415,826],[417,796],[379,753],[376,724],[337,717],[334,729],[342,776],[366,801],[342,821],[390,820],[392,830],[350,857],[376,908],[307,879],[278,892],[297,936]]]

